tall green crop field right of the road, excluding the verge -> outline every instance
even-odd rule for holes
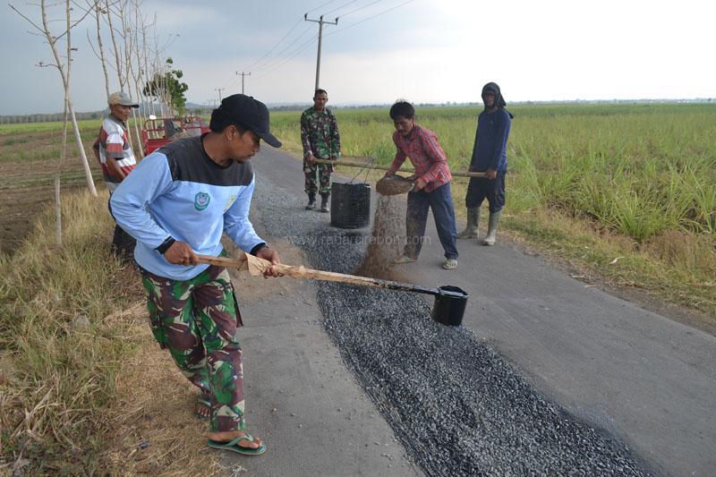
[[[716,106],[515,106],[508,209],[562,209],[641,243],[663,230],[716,232]],[[465,171],[478,107],[418,108],[454,171]],[[386,109],[337,110],[346,156],[395,155]],[[299,115],[273,115],[297,143]],[[456,182],[459,182],[457,180]],[[459,187],[457,188],[459,190]],[[456,204],[462,202],[455,197]]]

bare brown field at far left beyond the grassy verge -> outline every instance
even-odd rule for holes
[[[86,149],[91,144],[85,141]],[[55,174],[61,193],[86,187],[84,170],[74,148],[60,161],[62,132],[26,132],[0,135],[0,253],[12,254],[30,232],[38,215],[55,200]],[[95,186],[102,183],[101,168],[88,155]]]

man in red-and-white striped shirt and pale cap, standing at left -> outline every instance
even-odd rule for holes
[[[102,175],[111,196],[119,184],[137,166],[132,146],[129,143],[126,121],[137,103],[124,92],[117,91],[107,98],[109,115],[99,128],[99,137],[93,146],[95,158],[102,165]],[[136,241],[115,224],[112,239],[112,253],[118,259],[132,261]]]

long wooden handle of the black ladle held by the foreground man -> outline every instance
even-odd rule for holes
[[[226,259],[224,257],[213,257],[211,255],[198,255],[200,263],[208,263],[210,265],[217,265],[218,267],[231,267],[239,269],[249,269],[251,273],[250,262],[256,264],[257,269],[264,270],[271,267],[271,262],[268,260],[260,259],[259,257],[253,257],[246,253],[241,254],[241,258]],[[347,275],[345,273],[328,272],[324,270],[316,270],[312,268],[304,268],[303,265],[294,267],[292,265],[286,265],[279,263],[274,265],[279,273],[282,273],[288,277],[303,278],[321,280],[324,282],[337,282],[345,283],[348,285],[362,285],[362,286],[373,286],[378,288],[389,288],[391,290],[401,290],[405,292],[416,292],[419,294],[431,294],[439,295],[440,291],[436,288],[429,288],[421,285],[405,284],[400,282],[394,282],[391,280],[380,280],[379,278],[371,277],[359,277],[357,275]]]

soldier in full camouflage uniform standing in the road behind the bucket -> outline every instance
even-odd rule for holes
[[[303,172],[306,176],[308,205],[306,210],[316,207],[316,192],[320,192],[320,211],[328,212],[330,196],[330,173],[333,166],[316,164],[316,159],[328,159],[334,162],[341,157],[341,136],[333,112],[326,107],[328,93],[325,89],[316,89],[313,106],[301,115],[301,142],[303,143]],[[316,186],[316,173],[319,185]]]

